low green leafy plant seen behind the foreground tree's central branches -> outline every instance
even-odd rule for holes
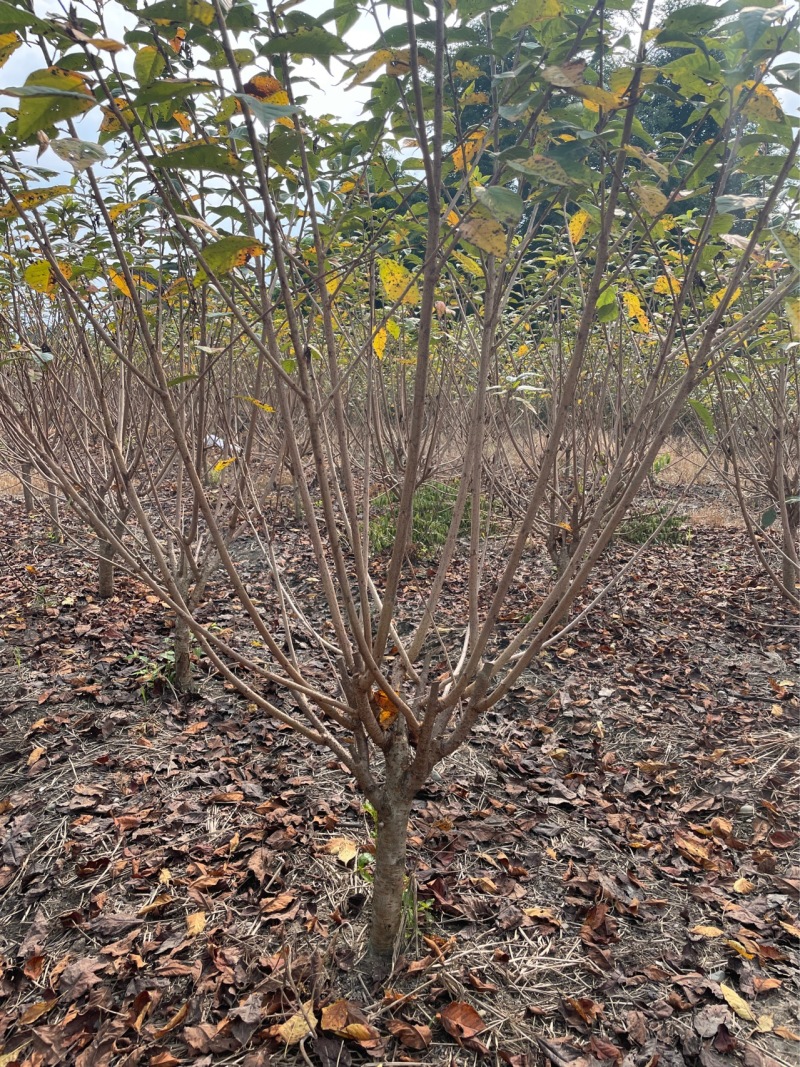
[[[421,557],[435,554],[447,540],[447,531],[452,521],[452,511],[459,495],[454,482],[429,481],[420,485],[414,494],[414,516],[412,541],[414,552]],[[371,504],[369,541],[373,552],[384,552],[391,547],[397,536],[397,494],[381,493]],[[481,517],[485,517],[489,507],[481,504]],[[459,536],[469,534],[471,508],[467,503],[459,527]]]

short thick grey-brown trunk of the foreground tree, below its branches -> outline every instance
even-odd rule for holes
[[[372,889],[372,921],[369,931],[368,961],[374,977],[391,971],[393,956],[400,935],[405,888],[405,848],[411,803],[399,790],[388,794],[378,809],[375,880]],[[391,794],[395,796],[391,796]]]

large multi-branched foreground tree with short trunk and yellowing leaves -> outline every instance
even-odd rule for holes
[[[714,120],[710,144],[688,157],[666,145],[649,154],[636,140],[654,84],[649,49],[663,32],[652,2],[637,13],[633,47],[608,38],[608,4],[409,3],[404,23],[382,30],[357,64],[338,35],[359,17],[355,2],[320,19],[225,6],[127,4],[124,43],[107,35],[100,5],[93,25],[41,19],[21,2],[0,13],[0,32],[39,48],[44,63],[6,91],[19,102],[4,147],[17,160],[38,141],[73,162],[97,271],[62,251],[48,217],[46,205],[71,187],[32,184],[43,176],[20,162],[0,175],[9,254],[34,246],[26,280],[45,286],[43,319],[58,308],[69,323],[53,369],[81,367],[97,391],[101,417],[80,446],[83,462],[113,471],[128,532],[43,437],[30,398],[50,370],[32,381],[25,354],[3,367],[0,418],[9,447],[58,484],[208,664],[266,715],[326,746],[372,803],[370,953],[385,972],[414,797],[570,625],[687,400],[796,282],[794,267],[778,271],[733,321],[751,253],[796,173],[797,134],[765,81],[793,28],[769,6],[687,16],[685,62],[671,77]],[[585,63],[598,43],[621,53],[608,86]],[[132,74],[117,61],[126,46]],[[473,128],[463,121],[470,83],[451,77],[470,47],[487,51],[492,70],[489,111]],[[307,58],[347,62],[351,85],[372,82],[363,121],[348,127],[304,108],[298,60]],[[90,130],[106,148],[78,138]],[[732,196],[730,182],[763,144],[775,149],[772,188]],[[126,200],[102,176],[107,155],[127,168]],[[693,218],[684,202],[700,195],[709,207]],[[718,264],[718,235],[737,210],[748,214],[746,246]],[[706,302],[693,283],[709,265],[719,287]],[[111,372],[98,375],[100,365]],[[108,403],[124,379],[133,410],[148,413],[138,463]],[[209,433],[225,449],[213,463]],[[311,627],[270,553],[279,514],[257,485],[270,439],[283,442],[319,569],[326,615],[314,640],[324,676],[297,640]],[[449,527],[420,574],[415,498],[447,465],[458,472]],[[375,490],[396,499],[383,561],[370,539]],[[271,575],[260,602],[231,554],[254,513]],[[554,529],[566,551],[550,591],[500,641],[530,541]],[[198,541],[262,654],[204,621]],[[439,626],[457,560],[458,634]],[[412,612],[401,598],[410,579],[420,598]]]

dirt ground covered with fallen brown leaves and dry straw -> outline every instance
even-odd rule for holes
[[[1,1067],[800,1062],[798,617],[693,509],[417,798],[375,990],[352,782],[202,665],[178,699],[156,598],[98,602],[87,553],[3,501]],[[509,630],[534,554],[523,579]]]

